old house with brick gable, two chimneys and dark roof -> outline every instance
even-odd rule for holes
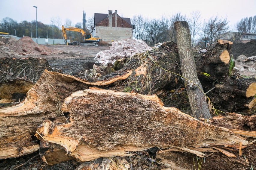
[[[108,14],[94,13],[93,36],[98,36],[101,41],[111,44],[113,41],[132,39],[133,26],[130,18],[122,18],[112,10]]]

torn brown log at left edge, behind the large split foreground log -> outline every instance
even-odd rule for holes
[[[57,72],[45,72],[18,105],[0,108],[0,159],[19,157],[39,149],[35,130],[43,119],[61,115],[63,99],[71,92],[87,89],[84,83]]]

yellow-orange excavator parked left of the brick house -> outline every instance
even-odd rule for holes
[[[75,31],[80,32],[83,35],[83,42],[67,42],[67,34],[66,31]],[[67,45],[98,45],[98,42],[100,42],[99,37],[92,37],[92,34],[86,34],[85,31],[81,28],[76,27],[68,27],[64,28],[62,25],[62,37],[64,37],[64,42]]]

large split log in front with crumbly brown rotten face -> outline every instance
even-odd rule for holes
[[[256,138],[255,132],[217,128],[176,108],[164,107],[157,96],[137,93],[81,90],[65,99],[62,111],[69,112],[70,123],[46,121],[38,128],[37,136],[44,140],[41,142],[53,143],[41,152],[45,163],[50,165],[58,163],[56,157],[84,162],[99,157],[129,156],[128,151],[155,146],[172,147],[199,157],[206,157],[204,151],[216,150],[235,157],[221,146],[237,149],[240,142],[243,148],[249,144],[234,134]]]

